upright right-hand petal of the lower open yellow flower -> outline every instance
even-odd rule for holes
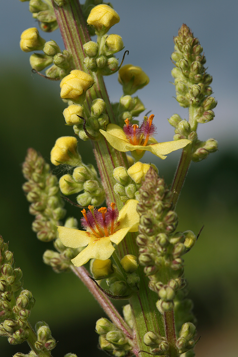
[[[118,230],[121,228],[129,227],[130,228],[129,232],[138,231],[140,216],[136,210],[137,203],[138,203],[137,200],[126,201],[126,204],[125,206],[122,207],[117,219],[117,222],[120,222],[117,228]]]

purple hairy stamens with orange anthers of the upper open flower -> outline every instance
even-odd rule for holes
[[[125,120],[123,131],[132,145],[147,145],[148,140],[156,133],[156,126],[152,123],[154,116],[145,116],[140,127],[137,124],[130,124],[128,118]]]

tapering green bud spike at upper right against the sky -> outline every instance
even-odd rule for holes
[[[199,123],[210,121],[214,117],[212,109],[217,105],[211,97],[209,86],[212,77],[206,73],[206,59],[201,55],[202,46],[188,26],[182,25],[178,36],[174,37],[174,52],[171,57],[176,67],[172,70],[176,85],[177,101],[183,107],[192,106]]]

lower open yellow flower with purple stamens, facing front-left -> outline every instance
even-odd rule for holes
[[[106,260],[110,258],[115,248],[112,243],[119,244],[128,232],[137,232],[140,216],[136,211],[138,201],[128,200],[118,213],[115,203],[111,207],[101,207],[95,210],[88,206],[83,209],[81,223],[86,231],[58,227],[59,238],[66,247],[85,247],[71,262],[75,266],[87,263],[91,258]]]

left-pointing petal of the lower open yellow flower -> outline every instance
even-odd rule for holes
[[[95,240],[95,235],[78,229],[58,226],[59,238],[66,247],[85,247],[89,242]]]

